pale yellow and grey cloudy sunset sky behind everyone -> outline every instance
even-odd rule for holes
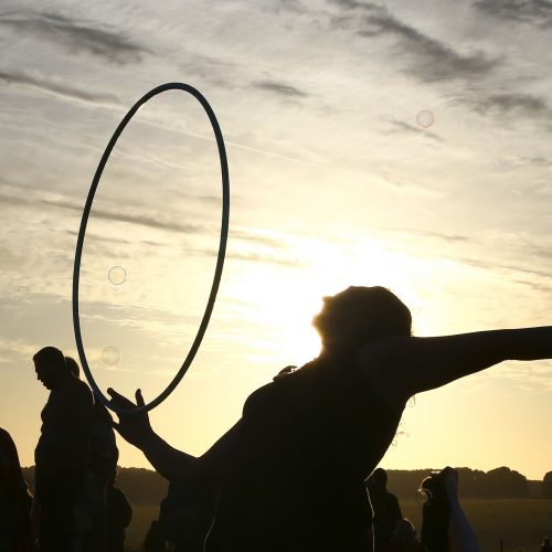
[[[77,357],[82,210],[126,112],[199,89],[225,139],[227,253],[195,360],[150,415],[201,454],[283,367],[316,357],[321,298],[383,285],[414,333],[551,323],[549,0],[0,0],[0,425],[33,464],[47,391],[32,355]],[[81,272],[100,386],[147,400],[206,304],[221,176],[198,102],[142,106],[102,177]],[[389,469],[552,470],[552,362],[506,362],[405,408]],[[120,465],[148,467],[118,440]]]

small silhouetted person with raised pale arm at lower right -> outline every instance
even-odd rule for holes
[[[429,552],[479,552],[477,538],[458,500],[458,473],[446,467],[422,481],[422,544]]]

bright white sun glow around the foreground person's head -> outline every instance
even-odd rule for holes
[[[316,357],[320,338],[312,317],[325,296],[350,285],[385,286],[406,304],[418,304],[408,287],[418,273],[418,261],[386,251],[381,241],[295,238],[287,244],[286,255],[297,263],[242,264],[229,277],[226,293],[244,301],[235,312],[240,323],[255,326],[255,338],[244,339],[256,348],[257,359],[259,350],[267,362],[305,362]]]

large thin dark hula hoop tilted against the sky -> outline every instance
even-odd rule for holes
[[[138,112],[138,109],[146,102],[151,99],[153,96],[157,96],[158,94],[161,94],[161,93],[167,92],[167,91],[182,91],[182,92],[185,92],[188,94],[191,94],[201,104],[201,106],[203,107],[204,112],[206,113],[206,115],[209,117],[209,120],[211,121],[211,127],[212,127],[214,136],[216,138],[216,146],[219,148],[219,157],[220,157],[220,161],[221,161],[221,177],[222,177],[221,238],[219,242],[219,254],[216,257],[216,266],[215,266],[215,270],[214,270],[213,284],[211,286],[211,293],[209,294],[209,299],[206,302],[205,311],[203,314],[203,318],[202,318],[200,327],[198,329],[198,333],[195,335],[193,343],[190,347],[190,351],[188,352],[188,355],[185,357],[185,360],[184,360],[182,367],[178,371],[177,375],[169,383],[169,385],[167,385],[164,391],[162,391],[156,399],[153,399],[148,404],[145,404],[144,406],[137,406],[136,408],[127,411],[127,410],[121,410],[121,408],[115,407],[113,404],[110,404],[109,399],[107,399],[104,395],[104,393],[99,390],[98,385],[96,384],[96,381],[94,380],[94,376],[92,375],[92,371],[91,371],[91,369],[88,367],[88,362],[86,360],[86,354],[84,352],[84,347],[83,347],[83,338],[81,335],[81,320],[79,320],[79,314],[78,314],[78,284],[79,284],[79,275],[81,275],[81,257],[83,254],[84,236],[86,234],[86,223],[88,222],[88,216],[91,214],[91,209],[92,209],[92,204],[94,201],[94,195],[96,193],[96,189],[99,184],[99,179],[102,178],[102,173],[104,172],[107,160],[109,159],[112,150],[115,147],[115,144],[117,142],[123,130],[128,125],[128,123],[130,121],[132,116],[136,114],[136,112]],[[78,230],[78,237],[77,237],[77,242],[76,242],[75,263],[74,263],[74,267],[73,267],[73,329],[75,331],[76,348],[78,350],[78,357],[81,359],[83,372],[85,373],[86,379],[88,380],[88,383],[89,383],[92,390],[94,391],[94,394],[99,399],[102,404],[108,406],[115,413],[117,413],[117,414],[137,414],[140,412],[148,412],[148,411],[155,408],[156,406],[161,404],[174,391],[174,389],[180,383],[180,381],[184,376],[185,372],[190,368],[190,365],[193,361],[193,358],[195,357],[195,353],[198,352],[198,349],[201,344],[201,340],[203,339],[206,327],[209,325],[209,320],[211,318],[214,301],[216,298],[216,293],[219,290],[219,285],[220,285],[221,276],[222,276],[222,267],[224,265],[224,256],[226,253],[226,242],[227,242],[227,236],[229,236],[229,220],[230,220],[230,177],[229,177],[229,163],[227,163],[227,158],[226,158],[226,150],[224,148],[224,139],[222,137],[221,127],[219,126],[219,123],[216,120],[214,112],[211,108],[211,106],[209,105],[209,102],[195,88],[193,88],[192,86],[190,86],[188,84],[183,84],[183,83],[167,83],[167,84],[162,84],[162,85],[151,89],[150,92],[145,94],[130,108],[130,110],[125,115],[125,117],[120,121],[119,126],[115,130],[114,135],[112,136],[112,139],[109,140],[109,142],[104,151],[104,155],[102,156],[98,168],[96,169],[96,173],[94,174],[94,179],[92,181],[91,189],[88,191],[88,197],[86,199],[86,203],[84,205],[83,216],[81,219],[81,227]]]

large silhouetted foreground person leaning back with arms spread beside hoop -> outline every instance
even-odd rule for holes
[[[552,357],[550,327],[414,338],[411,322],[388,289],[350,287],[327,297],[314,320],[320,355],[255,391],[202,456],[168,445],[147,414],[123,414],[118,431],[167,479],[220,488],[209,552],[365,552],[364,480],[406,401],[502,360]],[[144,404],[139,390],[136,400]]]

